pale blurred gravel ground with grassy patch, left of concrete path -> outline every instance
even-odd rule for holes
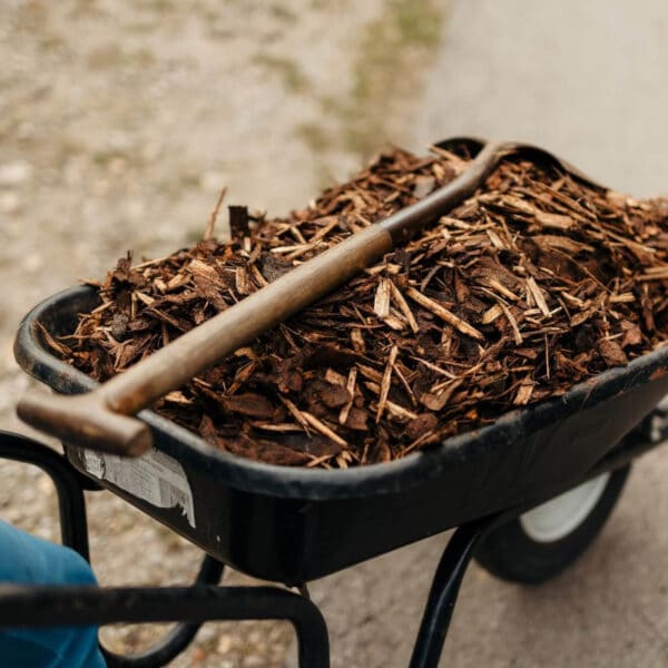
[[[283,213],[411,135],[442,3],[405,0],[6,0],[0,6],[0,425],[30,381],[20,317],[116,259],[202,235],[227,203]],[[326,29],[326,33],[324,32]],[[411,76],[406,76],[411,68]],[[222,222],[223,224],[224,222]],[[1,515],[57,540],[55,493],[0,465]],[[200,553],[107,493],[89,495],[105,584],[187,583]],[[226,581],[247,582],[239,573]],[[158,627],[112,627],[134,651]],[[174,666],[281,666],[281,622],[207,625]]]

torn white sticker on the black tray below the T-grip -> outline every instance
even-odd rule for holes
[[[157,508],[180,507],[195,528],[193,492],[183,466],[173,458],[150,450],[137,459],[84,451],[84,466],[100,480],[107,480]]]

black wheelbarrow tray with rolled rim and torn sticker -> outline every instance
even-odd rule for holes
[[[98,305],[76,287],[22,322],[21,366],[59,393],[95,382],[56,358],[51,336],[71,333]],[[220,561],[299,584],[478,518],[531,507],[592,474],[668,393],[668,346],[504,414],[483,429],[405,459],[347,470],[276,466],[217,451],[154,412],[155,450],[138,460],[66,444],[67,456],[134,505]]]

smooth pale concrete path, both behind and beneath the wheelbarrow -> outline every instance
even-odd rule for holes
[[[551,148],[602,183],[668,193],[668,6],[661,1],[451,3],[415,146],[471,134]],[[668,451],[645,456],[599,540],[553,582],[472,567],[442,666],[668,665]],[[444,537],[313,586],[335,668],[407,665]]]

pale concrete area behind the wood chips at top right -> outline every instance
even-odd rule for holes
[[[416,145],[521,139],[610,187],[668,194],[667,32],[660,0],[453,0]]]

